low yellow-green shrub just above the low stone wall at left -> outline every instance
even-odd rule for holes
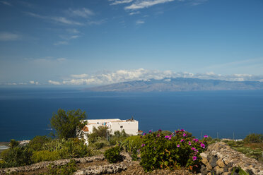
[[[53,161],[56,159],[61,159],[61,157],[57,151],[50,152],[49,150],[41,150],[33,152],[31,159],[34,163],[37,163],[43,161]]]

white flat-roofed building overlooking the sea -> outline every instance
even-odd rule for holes
[[[88,143],[88,134],[93,132],[93,127],[98,128],[99,126],[105,126],[110,131],[110,134],[113,134],[115,131],[124,130],[125,133],[129,135],[138,135],[141,133],[139,131],[139,122],[133,118],[128,120],[120,119],[91,119],[85,120],[88,122],[86,126],[83,127],[82,133],[83,138]]]

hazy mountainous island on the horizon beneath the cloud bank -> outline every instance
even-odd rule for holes
[[[204,80],[198,78],[163,78],[134,80],[85,90],[93,92],[178,92],[201,90],[263,90],[259,81]]]

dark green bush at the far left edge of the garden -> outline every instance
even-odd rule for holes
[[[32,150],[28,146],[19,146],[15,140],[11,140],[11,148],[1,152],[4,160],[1,166],[19,167],[31,164]],[[3,165],[4,164],[4,165]]]

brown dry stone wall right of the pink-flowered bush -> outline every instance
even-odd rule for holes
[[[263,164],[256,159],[245,157],[241,152],[231,149],[226,143],[209,145],[206,152],[201,153],[203,163],[201,174],[230,175],[234,167],[241,167],[250,175],[263,175]],[[238,174],[238,169],[235,169]]]

